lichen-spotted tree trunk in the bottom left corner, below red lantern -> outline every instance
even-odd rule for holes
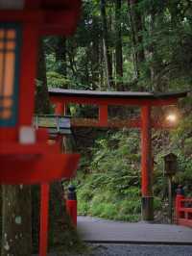
[[[32,255],[31,189],[23,185],[3,185],[2,195],[1,256]]]

